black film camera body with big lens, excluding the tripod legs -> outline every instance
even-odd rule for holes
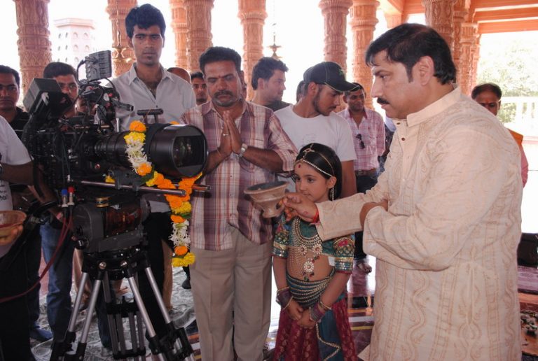
[[[132,169],[125,151],[128,132],[117,131],[115,109],[131,106],[121,103],[113,87],[100,85],[99,77],[110,76],[110,52],[108,62],[104,59],[100,53],[86,57],[88,80],[78,82],[85,113],[64,118],[72,102],[53,79],[34,79],[24,99],[30,119],[22,141],[60,206],[70,209],[74,235],[85,252],[141,243],[149,208],[140,195],[154,191],[144,187]],[[179,181],[202,171],[207,141],[200,129],[190,125],[146,125],[144,153],[156,171]],[[107,175],[114,183],[105,182]],[[129,227],[124,227],[128,219]]]

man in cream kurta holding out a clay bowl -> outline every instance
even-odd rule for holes
[[[417,24],[391,31],[434,32]],[[375,325],[359,356],[520,360],[518,148],[499,121],[453,87],[455,72],[444,84],[436,74],[426,92],[443,95],[425,106],[415,99],[420,94],[406,87],[420,92],[436,71],[428,52],[418,56],[408,85],[398,84],[408,100],[402,102],[391,86],[394,69],[400,66],[405,78],[405,68],[392,60],[390,48],[374,44],[370,58],[367,53],[373,96],[388,116],[399,118],[386,171],[366,194],[317,205],[322,239],[364,224],[364,250],[377,258]],[[408,111],[410,101],[418,108]],[[288,197],[287,206],[298,213],[315,212],[298,196]]]

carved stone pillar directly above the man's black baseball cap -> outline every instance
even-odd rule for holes
[[[335,62],[346,69],[347,46],[345,31],[347,14],[350,12],[352,0],[321,0],[319,8],[325,20],[325,47],[323,55],[326,62]]]

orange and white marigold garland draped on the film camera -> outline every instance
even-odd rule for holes
[[[179,124],[171,122],[171,124]],[[195,256],[189,252],[188,245],[191,244],[191,239],[188,236],[187,227],[188,219],[191,218],[191,194],[193,192],[193,184],[202,176],[194,176],[191,178],[183,178],[176,186],[172,180],[165,178],[153,168],[153,164],[149,162],[146,153],[144,153],[144,141],[146,141],[146,125],[139,120],[135,120],[129,126],[130,132],[125,134],[126,148],[125,153],[131,164],[132,170],[142,177],[142,181],[148,186],[156,185],[160,189],[180,189],[185,191],[183,197],[174,194],[165,194],[165,198],[170,204],[172,215],[172,234],[170,240],[174,243],[174,255],[172,257],[173,267],[186,267],[193,264]],[[106,176],[106,182],[113,183],[113,178]]]

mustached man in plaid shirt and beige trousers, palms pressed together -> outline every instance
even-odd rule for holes
[[[270,220],[244,196],[257,183],[293,168],[296,148],[268,108],[241,95],[241,57],[208,48],[200,69],[211,101],[181,121],[202,129],[207,157],[202,182],[211,197],[193,194],[191,278],[203,360],[263,360],[270,323]]]

